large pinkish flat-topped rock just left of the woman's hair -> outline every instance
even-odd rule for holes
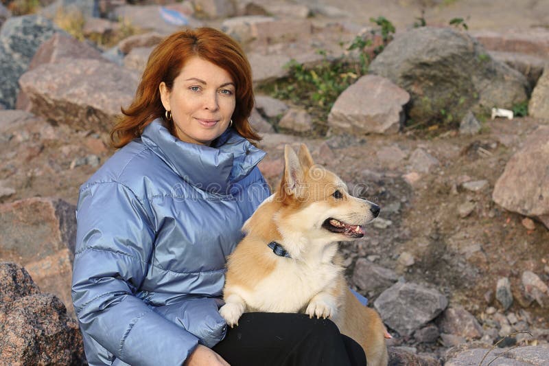
[[[99,60],[40,65],[19,80],[32,112],[79,130],[108,131],[135,95],[139,76]]]

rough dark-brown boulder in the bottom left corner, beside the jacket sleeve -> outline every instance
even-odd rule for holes
[[[82,365],[75,319],[54,295],[40,293],[25,268],[0,262],[0,365]]]

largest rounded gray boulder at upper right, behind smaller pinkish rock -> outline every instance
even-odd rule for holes
[[[450,27],[404,32],[369,69],[410,93],[408,113],[416,122],[455,123],[469,110],[487,113],[493,106],[511,108],[528,99],[528,82],[521,73],[493,60],[478,41]]]

